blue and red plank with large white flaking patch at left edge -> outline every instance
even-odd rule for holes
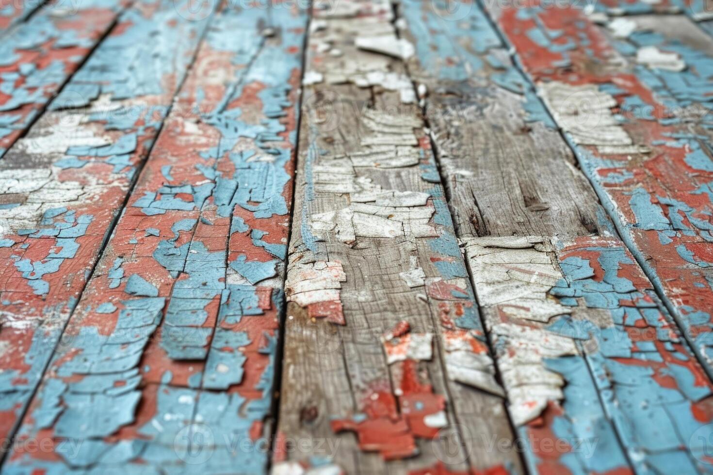
[[[207,26],[181,5],[142,1],[126,11],[62,91],[73,91],[78,107],[45,113],[0,163],[5,439],[24,414]]]

